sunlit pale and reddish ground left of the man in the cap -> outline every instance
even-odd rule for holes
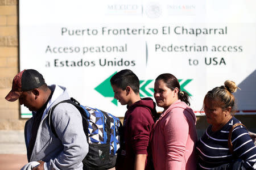
[[[17,170],[26,163],[27,156],[23,130],[0,130],[0,170]],[[114,168],[111,170],[114,170]]]

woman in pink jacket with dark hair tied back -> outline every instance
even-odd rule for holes
[[[161,74],[155,80],[156,104],[164,108],[152,134],[152,158],[156,170],[196,169],[196,116],[188,107],[189,95],[180,91],[172,74]]]

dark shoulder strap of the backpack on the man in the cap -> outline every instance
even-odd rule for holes
[[[57,133],[56,133],[56,130],[55,130],[53,124],[52,124],[52,113],[53,113],[54,109],[57,107],[57,105],[59,105],[59,104],[61,104],[61,103],[69,103],[69,104],[72,104],[72,105],[74,105],[74,106],[77,108],[77,110],[79,110],[79,112],[80,112],[80,114],[81,114],[81,116],[82,116],[83,128],[84,128],[84,131],[86,131],[86,127],[84,126],[84,125],[87,125],[87,124],[88,124],[88,123],[86,122],[86,119],[85,119],[85,118],[87,118],[86,113],[85,113],[84,109],[80,106],[80,103],[79,103],[76,99],[74,99],[73,97],[71,97],[71,99],[60,101],[59,103],[55,104],[55,105],[50,109],[50,112],[48,113],[47,116],[48,116],[48,122],[49,122],[49,124],[50,124],[52,133],[53,133],[57,138],[59,138],[58,135],[57,135]],[[85,118],[84,118],[84,117],[85,117]],[[87,142],[88,142],[88,134],[85,133],[85,135],[86,135],[86,139],[87,139]]]

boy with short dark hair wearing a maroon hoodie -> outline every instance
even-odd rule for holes
[[[123,120],[121,155],[116,169],[153,169],[149,144],[156,114],[155,103],[151,98],[141,99],[139,79],[131,70],[121,70],[110,79],[114,98],[127,105]],[[121,161],[121,162],[120,162]]]

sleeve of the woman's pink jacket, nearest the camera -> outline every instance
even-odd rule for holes
[[[188,139],[189,125],[184,109],[174,108],[164,122],[164,146],[166,146],[166,169],[181,169]]]

